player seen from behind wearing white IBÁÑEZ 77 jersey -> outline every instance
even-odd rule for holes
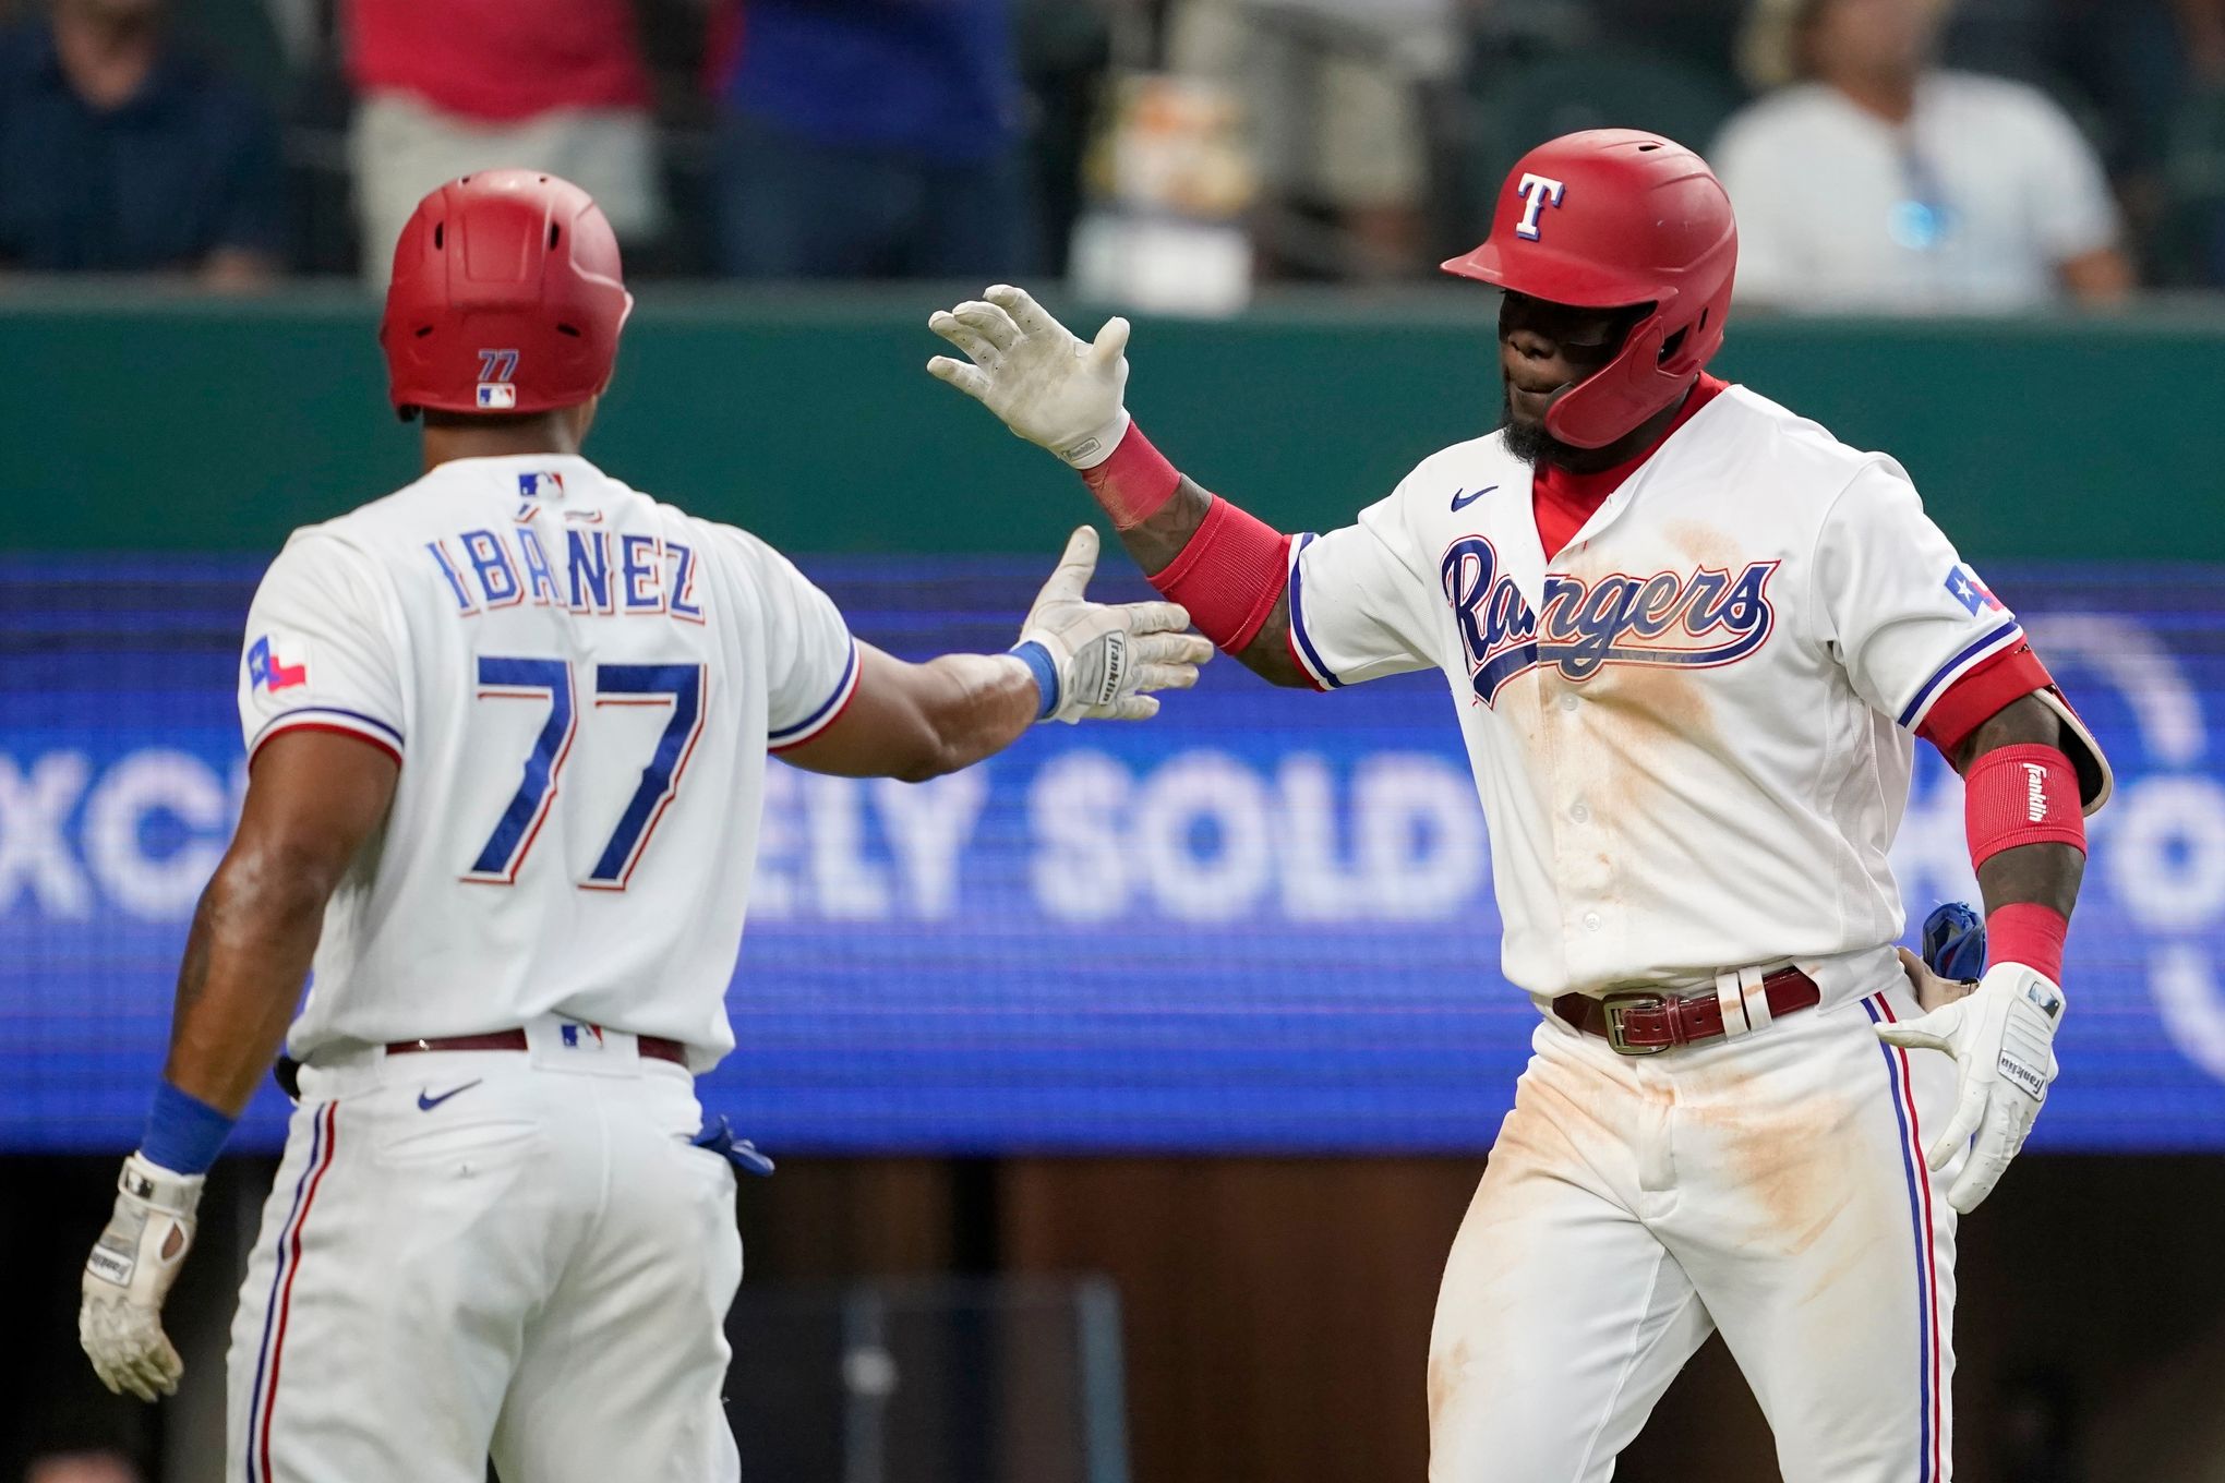
[[[772,547],[581,458],[630,307],[578,187],[429,193],[380,327],[425,476],[296,531],[249,611],[247,800],[80,1310],[111,1390],[176,1390],[162,1296],[283,1034],[236,1483],[483,1483],[490,1454],[510,1483],[736,1479],[752,1149],[699,1138],[692,1076],[734,1045],[765,754],[930,778],[1150,716],[1210,656],[1179,607],[1081,596],[1088,529],[1012,654],[852,640]]]

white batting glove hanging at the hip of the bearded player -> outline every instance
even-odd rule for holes
[[[2023,963],[1996,963],[1978,987],[1951,1005],[1900,1025],[1878,1025],[1878,1038],[1909,1049],[1942,1049],[1956,1058],[1956,1109],[1925,1152],[1947,1167],[1971,1141],[1969,1163],[1947,1190],[1947,1203],[1969,1214],[1994,1192],[2002,1170],[2025,1147],[2047,1087],[2056,1078],[2056,1027],[2063,989]]]

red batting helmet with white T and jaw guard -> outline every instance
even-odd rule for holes
[[[1738,225],[1707,160],[1658,133],[1584,129],[1515,162],[1491,236],[1444,271],[1578,309],[1653,305],[1622,354],[1544,414],[1562,442],[1604,447],[1722,349],[1733,267]]]

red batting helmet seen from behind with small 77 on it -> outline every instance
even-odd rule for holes
[[[394,245],[378,325],[394,409],[550,411],[601,394],[634,307],[621,278],[619,238],[570,180],[449,180]]]

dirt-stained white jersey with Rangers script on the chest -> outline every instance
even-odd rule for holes
[[[1290,560],[1317,685],[1451,680],[1504,972],[1533,994],[1896,940],[1914,731],[2023,643],[1900,465],[1742,387],[1553,560],[1500,434]]]

